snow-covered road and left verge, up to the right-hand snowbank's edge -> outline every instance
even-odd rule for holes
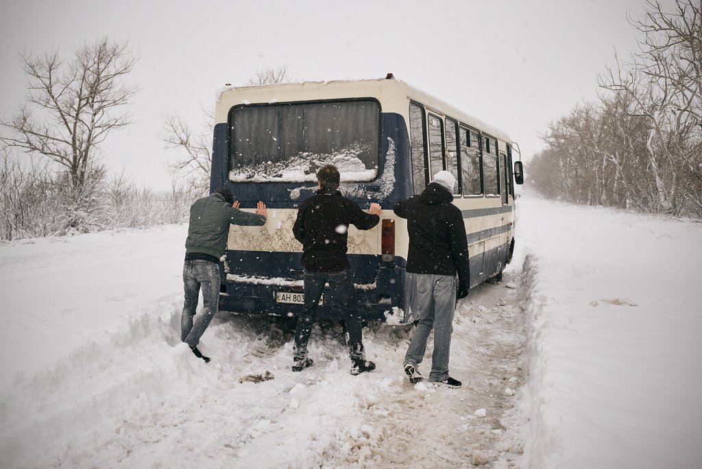
[[[510,467],[519,456],[518,272],[459,303],[461,389],[406,381],[410,326],[365,328],[378,369],[352,376],[339,324],[321,322],[315,366],[293,373],[289,319],[221,315],[204,364],[179,343],[184,237],[165,227],[0,246],[3,340],[16,352],[2,362],[7,467]],[[32,293],[37,277],[51,294]]]

